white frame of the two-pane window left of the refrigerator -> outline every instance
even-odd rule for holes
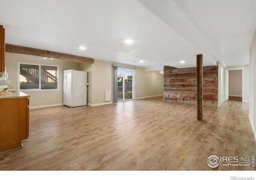
[[[57,67],[57,89],[41,89],[41,73],[39,73],[39,88],[38,89],[20,89],[20,64],[29,64],[29,65],[35,65],[39,66],[39,72],[41,72],[41,66],[54,66]],[[59,87],[59,66],[51,65],[51,64],[36,64],[36,63],[30,63],[30,62],[18,62],[18,91],[22,92],[44,92],[44,91],[60,91]]]

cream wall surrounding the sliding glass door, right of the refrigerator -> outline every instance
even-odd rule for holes
[[[98,106],[113,103],[113,64],[103,60],[94,59],[94,64],[88,71],[88,104]],[[117,64],[128,66],[125,64]],[[158,72],[145,72],[144,68],[131,66],[136,68],[134,95],[135,99],[160,96],[163,95],[163,74]],[[85,69],[84,69],[85,70]],[[105,101],[105,90],[111,90],[111,101]]]

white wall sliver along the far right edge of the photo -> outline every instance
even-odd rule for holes
[[[249,118],[252,124],[252,130],[256,138],[256,31],[250,46],[250,102],[249,102]]]

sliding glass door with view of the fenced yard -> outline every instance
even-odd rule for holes
[[[118,68],[118,71],[117,71],[118,102],[134,99],[133,78],[134,78],[134,70]]]

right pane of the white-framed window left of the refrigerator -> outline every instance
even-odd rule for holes
[[[58,68],[41,66],[41,89],[58,89]]]

